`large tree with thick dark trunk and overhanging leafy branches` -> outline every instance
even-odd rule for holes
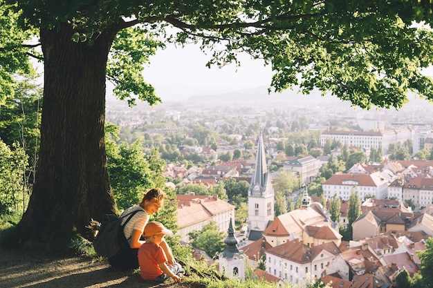
[[[409,91],[433,97],[432,80],[421,74],[432,64],[432,32],[413,25],[432,22],[429,1],[0,4],[2,88],[10,88],[11,73],[30,70],[29,56],[44,63],[39,165],[17,243],[61,249],[75,233],[89,238],[89,221],[115,210],[104,142],[106,79],[131,105],[157,104],[141,72],[165,43],[199,43],[211,51],[208,66],[239,64],[240,51],[263,59],[273,70],[269,90],[277,92],[319,88],[362,108],[400,108]],[[202,144],[215,142],[212,133],[202,136]]]

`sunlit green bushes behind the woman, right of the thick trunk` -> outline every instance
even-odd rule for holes
[[[107,138],[118,138],[118,126],[106,127]],[[165,162],[159,158],[156,149],[150,155],[142,151],[140,140],[129,145],[116,144],[107,139],[107,160],[111,186],[118,209],[124,210],[142,200],[145,191],[160,188],[167,194],[160,211],[151,215],[152,220],[162,222],[165,227],[177,231],[177,199],[173,190],[165,187]],[[167,237],[167,242],[177,257],[186,258],[190,254],[188,247],[180,244],[180,236]]]

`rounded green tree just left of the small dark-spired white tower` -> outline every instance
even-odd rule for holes
[[[219,231],[219,227],[213,220],[203,226],[201,231],[191,231],[188,236],[193,247],[202,249],[212,258],[225,247],[225,233]]]

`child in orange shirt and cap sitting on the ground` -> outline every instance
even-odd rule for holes
[[[181,282],[178,274],[185,273],[185,270],[177,262],[169,264],[164,250],[159,246],[165,235],[172,234],[160,222],[151,221],[145,226],[146,242],[138,249],[140,274],[144,280],[161,283],[171,277],[174,282]]]

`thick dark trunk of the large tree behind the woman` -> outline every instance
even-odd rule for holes
[[[71,41],[68,26],[41,30],[44,104],[35,186],[17,226],[21,244],[63,249],[74,233],[116,208],[104,141],[105,74],[116,35],[106,29],[93,45]]]

